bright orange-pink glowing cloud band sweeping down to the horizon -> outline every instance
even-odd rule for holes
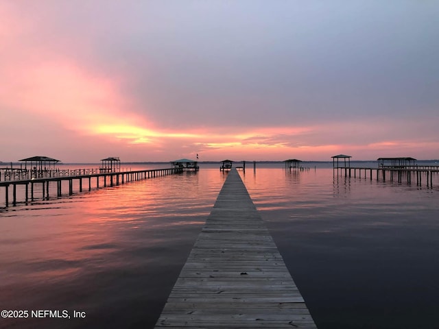
[[[367,131],[370,123],[328,123],[304,127],[206,127],[190,130],[163,130],[134,114],[129,99],[120,92],[117,78],[95,76],[65,60],[43,62],[18,69],[6,76],[10,84],[0,91],[3,103],[11,108],[25,108],[41,118],[53,120],[64,129],[86,136],[101,136],[119,145],[147,145],[152,151],[171,154],[182,149],[202,152],[205,160],[220,160],[226,155],[255,160],[308,158],[320,160],[338,153],[371,154],[363,159],[387,156],[398,149],[403,155],[423,146],[406,141],[376,143],[328,143],[340,132],[355,136]],[[8,97],[5,97],[8,96]],[[146,105],[147,106],[147,105]],[[348,128],[346,128],[346,126]],[[329,136],[313,139],[313,135]],[[310,137],[311,136],[311,137]],[[403,151],[403,150],[407,151]],[[373,150],[373,151],[372,151]],[[381,152],[381,153],[380,153]],[[190,153],[190,154],[192,154]],[[183,153],[181,156],[185,156]],[[395,154],[396,156],[401,154]],[[189,154],[188,154],[189,156]],[[172,156],[174,158],[174,156]],[[156,159],[159,160],[159,159]]]

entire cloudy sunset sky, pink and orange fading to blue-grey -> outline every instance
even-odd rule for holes
[[[0,161],[439,158],[439,1],[0,0]]]

